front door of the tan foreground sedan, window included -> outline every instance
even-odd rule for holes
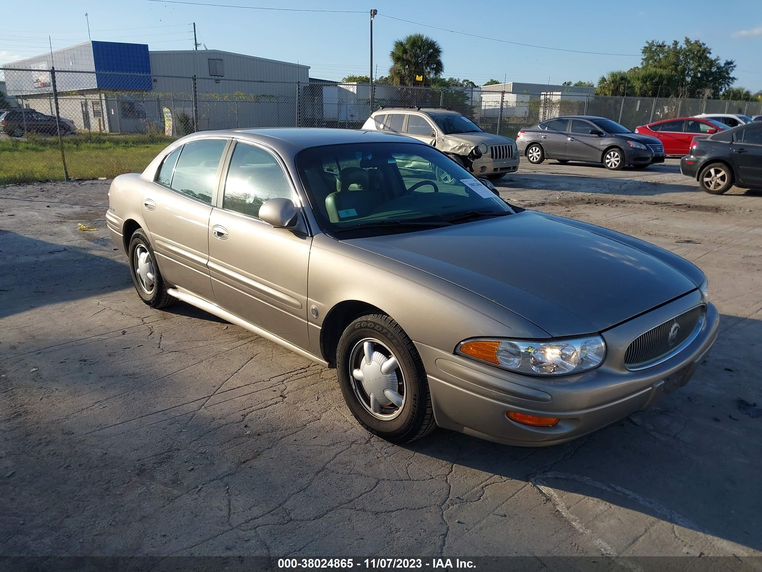
[[[309,351],[307,265],[312,239],[259,219],[271,198],[299,199],[280,159],[237,142],[209,220],[209,270],[217,304]],[[301,215],[300,215],[301,216]]]

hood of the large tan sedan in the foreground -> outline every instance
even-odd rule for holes
[[[600,332],[696,289],[672,265],[607,232],[525,210],[346,242],[466,288],[550,336]]]

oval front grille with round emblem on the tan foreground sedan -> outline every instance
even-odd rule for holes
[[[696,306],[638,336],[624,354],[624,365],[628,369],[643,368],[680,349],[698,326],[703,312],[703,306]],[[677,332],[674,339],[670,339],[675,325],[678,326]]]

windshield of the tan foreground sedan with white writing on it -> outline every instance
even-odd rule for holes
[[[296,156],[312,211],[342,239],[466,223],[513,210],[436,149],[411,143],[352,143]]]

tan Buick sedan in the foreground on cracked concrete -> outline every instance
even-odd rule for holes
[[[146,304],[337,368],[392,442],[575,439],[687,383],[717,335],[690,262],[511,206],[391,133],[196,133],[115,178],[106,217]]]

